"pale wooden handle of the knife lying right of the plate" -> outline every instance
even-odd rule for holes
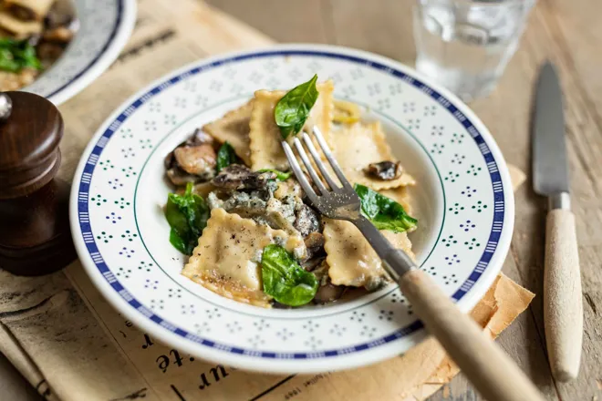
[[[552,374],[563,382],[579,373],[583,341],[581,298],[575,215],[555,209],[548,212],[545,229],[545,342]]]

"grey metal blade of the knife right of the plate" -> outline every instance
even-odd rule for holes
[[[533,187],[540,195],[569,191],[565,114],[560,81],[552,63],[539,74],[535,95]]]

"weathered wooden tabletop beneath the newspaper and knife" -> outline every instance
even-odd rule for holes
[[[207,0],[279,42],[351,46],[413,65],[412,0]],[[530,15],[516,55],[489,98],[471,105],[493,132],[506,160],[529,172],[529,116],[539,65],[558,67],[566,97],[566,133],[573,208],[583,280],[585,334],[581,372],[556,383],[545,354],[543,265],[545,200],[528,181],[516,193],[511,252],[503,272],[537,296],[529,310],[503,332],[499,344],[550,400],[602,401],[602,5],[587,0],[540,0]],[[599,310],[598,310],[599,308]],[[1,397],[23,394],[23,381],[0,357]],[[31,393],[31,392],[29,392]],[[19,398],[39,399],[34,394]],[[432,400],[479,400],[459,375]]]

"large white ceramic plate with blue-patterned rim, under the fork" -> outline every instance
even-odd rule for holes
[[[163,157],[193,129],[258,88],[317,73],[337,98],[382,121],[418,180],[421,268],[468,311],[500,272],[514,222],[500,150],[460,100],[408,67],[358,50],[296,45],[202,60],[140,91],[110,117],[79,163],[71,196],[78,253],[121,313],[163,342],[224,365],[292,373],[367,365],[425,336],[395,285],[352,301],[296,310],[236,303],[192,283],[168,241]]]

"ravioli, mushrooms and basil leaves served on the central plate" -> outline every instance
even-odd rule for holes
[[[317,76],[288,92],[258,90],[165,158],[176,188],[165,216],[171,244],[190,256],[184,276],[263,307],[331,303],[389,283],[358,229],[322,216],[289,170],[281,140],[314,125],[355,184],[362,214],[413,256],[408,232],[418,221],[407,188],[415,180],[393,157],[380,123],[362,121],[358,106],[335,100],[333,91]]]

